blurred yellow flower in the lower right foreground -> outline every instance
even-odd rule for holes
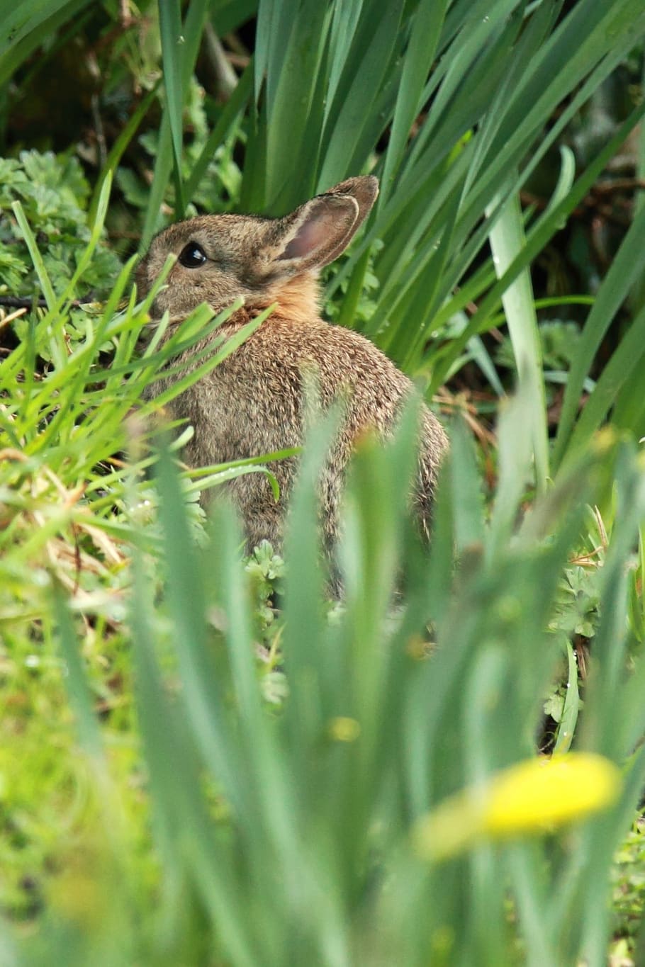
[[[482,837],[543,833],[615,802],[620,770],[591,752],[528,759],[455,793],[413,830],[425,860],[448,859]]]

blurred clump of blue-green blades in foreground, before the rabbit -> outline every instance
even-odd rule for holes
[[[514,404],[500,430],[507,485],[521,479],[518,461],[528,451],[516,454],[510,446],[522,405]],[[264,657],[257,658],[267,619],[253,595],[267,601],[263,582],[281,565],[267,547],[245,564],[235,522],[223,511],[211,541],[197,546],[181,480],[162,454],[161,542],[153,548],[136,542],[141,549],[133,551],[121,630],[132,648],[131,698],[142,741],[130,775],[146,777],[144,803],[152,809],[146,835],[161,866],[152,854],[145,864],[126,859],[142,816],[133,822],[124,805],[110,729],[105,722],[99,727],[92,675],[79,660],[73,610],[59,595],[44,613],[44,627],[55,629],[61,643],[81,761],[92,788],[103,790],[103,808],[87,817],[89,839],[78,846],[73,877],[51,882],[50,917],[66,923],[65,932],[57,939],[45,920],[37,937],[18,948],[26,962],[41,962],[40,943],[48,956],[58,943],[71,963],[73,955],[83,962],[90,950],[109,962],[116,956],[111,934],[103,934],[110,923],[119,955],[150,963],[163,955],[191,962],[205,951],[230,963],[259,957],[334,963],[332,942],[348,963],[382,962],[395,950],[401,963],[428,957],[512,963],[513,936],[521,938],[528,962],[585,955],[601,963],[610,929],[601,898],[645,774],[640,752],[623,778],[611,766],[625,764],[643,725],[642,669],[626,680],[616,664],[616,649],[624,653],[630,641],[622,562],[645,500],[632,451],[612,444],[587,454],[523,521],[520,515],[519,527],[515,488],[515,507],[496,506],[486,526],[471,447],[455,427],[429,558],[406,523],[394,472],[411,465],[411,434],[396,443],[394,461],[378,451],[359,454],[340,554],[351,569],[346,598],[330,616],[321,607],[325,575],[307,483],[325,453],[326,432],[320,427],[310,441],[285,549],[279,656],[288,693],[278,700],[268,700]],[[534,761],[531,782],[543,785],[543,799],[532,794],[528,815],[521,811],[526,769],[513,763],[533,754],[540,684],[560,660],[549,616],[558,613],[560,575],[580,545],[583,502],[602,488],[609,460],[625,513],[607,532],[599,570],[597,673],[577,737],[578,748],[594,754],[587,774],[585,755],[576,753],[581,772],[574,781],[586,805],[550,790]],[[393,613],[388,601],[403,564],[408,589]],[[151,573],[161,575],[162,591]],[[431,653],[423,645],[429,625]],[[572,770],[576,761],[573,755]],[[596,762],[610,778],[602,779],[601,814],[583,823],[596,795]],[[500,802],[506,811],[483,825],[487,790],[493,808],[502,781],[509,786]],[[511,793],[518,797],[513,807]],[[456,822],[454,809],[441,811],[452,795],[461,804],[458,850],[436,833],[440,815],[443,823]],[[575,835],[548,825],[555,807],[567,808]],[[121,826],[113,825],[114,810]],[[103,842],[99,860],[95,842]],[[104,872],[88,874],[96,864]],[[109,888],[116,875],[118,897]],[[88,876],[98,893],[66,900],[64,892],[79,891],[79,879]],[[509,898],[513,928],[505,925]]]

